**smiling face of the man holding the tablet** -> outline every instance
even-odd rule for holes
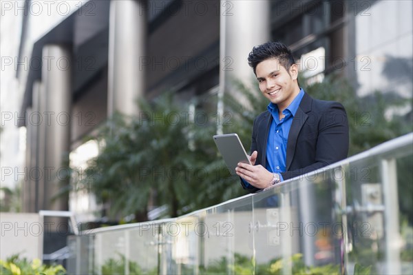
[[[288,72],[277,59],[266,59],[255,68],[262,94],[277,104],[280,112],[287,108],[299,93],[297,65],[291,65]]]

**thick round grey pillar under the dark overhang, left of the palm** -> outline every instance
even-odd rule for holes
[[[67,184],[72,101],[70,51],[62,45],[43,48],[45,92],[44,210],[67,210],[68,196],[55,198]],[[42,154],[42,152],[39,152]]]

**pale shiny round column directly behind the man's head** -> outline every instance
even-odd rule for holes
[[[225,91],[231,91],[233,79],[251,86],[255,77],[247,58],[253,46],[271,39],[270,2],[221,0],[220,87]]]

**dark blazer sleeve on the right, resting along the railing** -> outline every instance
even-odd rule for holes
[[[340,103],[331,101],[328,103],[328,107],[323,109],[324,110],[321,110],[318,114],[319,119],[317,125],[312,126],[317,126],[317,142],[315,143],[315,147],[304,147],[304,145],[300,147],[297,145],[295,158],[298,158],[299,161],[303,163],[307,162],[306,165],[293,167],[293,170],[282,173],[284,180],[292,179],[295,176],[300,176],[346,159],[349,147],[346,110]],[[306,137],[301,136],[301,141],[303,141],[301,144],[306,144],[304,139],[306,139]],[[313,152],[314,158],[312,160],[302,161],[308,152]],[[293,161],[295,160],[293,159]]]

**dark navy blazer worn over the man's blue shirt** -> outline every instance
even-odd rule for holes
[[[268,131],[273,116],[262,112],[255,118],[251,154],[258,152],[255,165],[266,167]],[[334,101],[321,101],[304,94],[288,133],[286,172],[284,180],[325,167],[348,154],[348,119],[343,105]],[[244,184],[242,184],[244,187]],[[257,192],[250,185],[249,192]]]

